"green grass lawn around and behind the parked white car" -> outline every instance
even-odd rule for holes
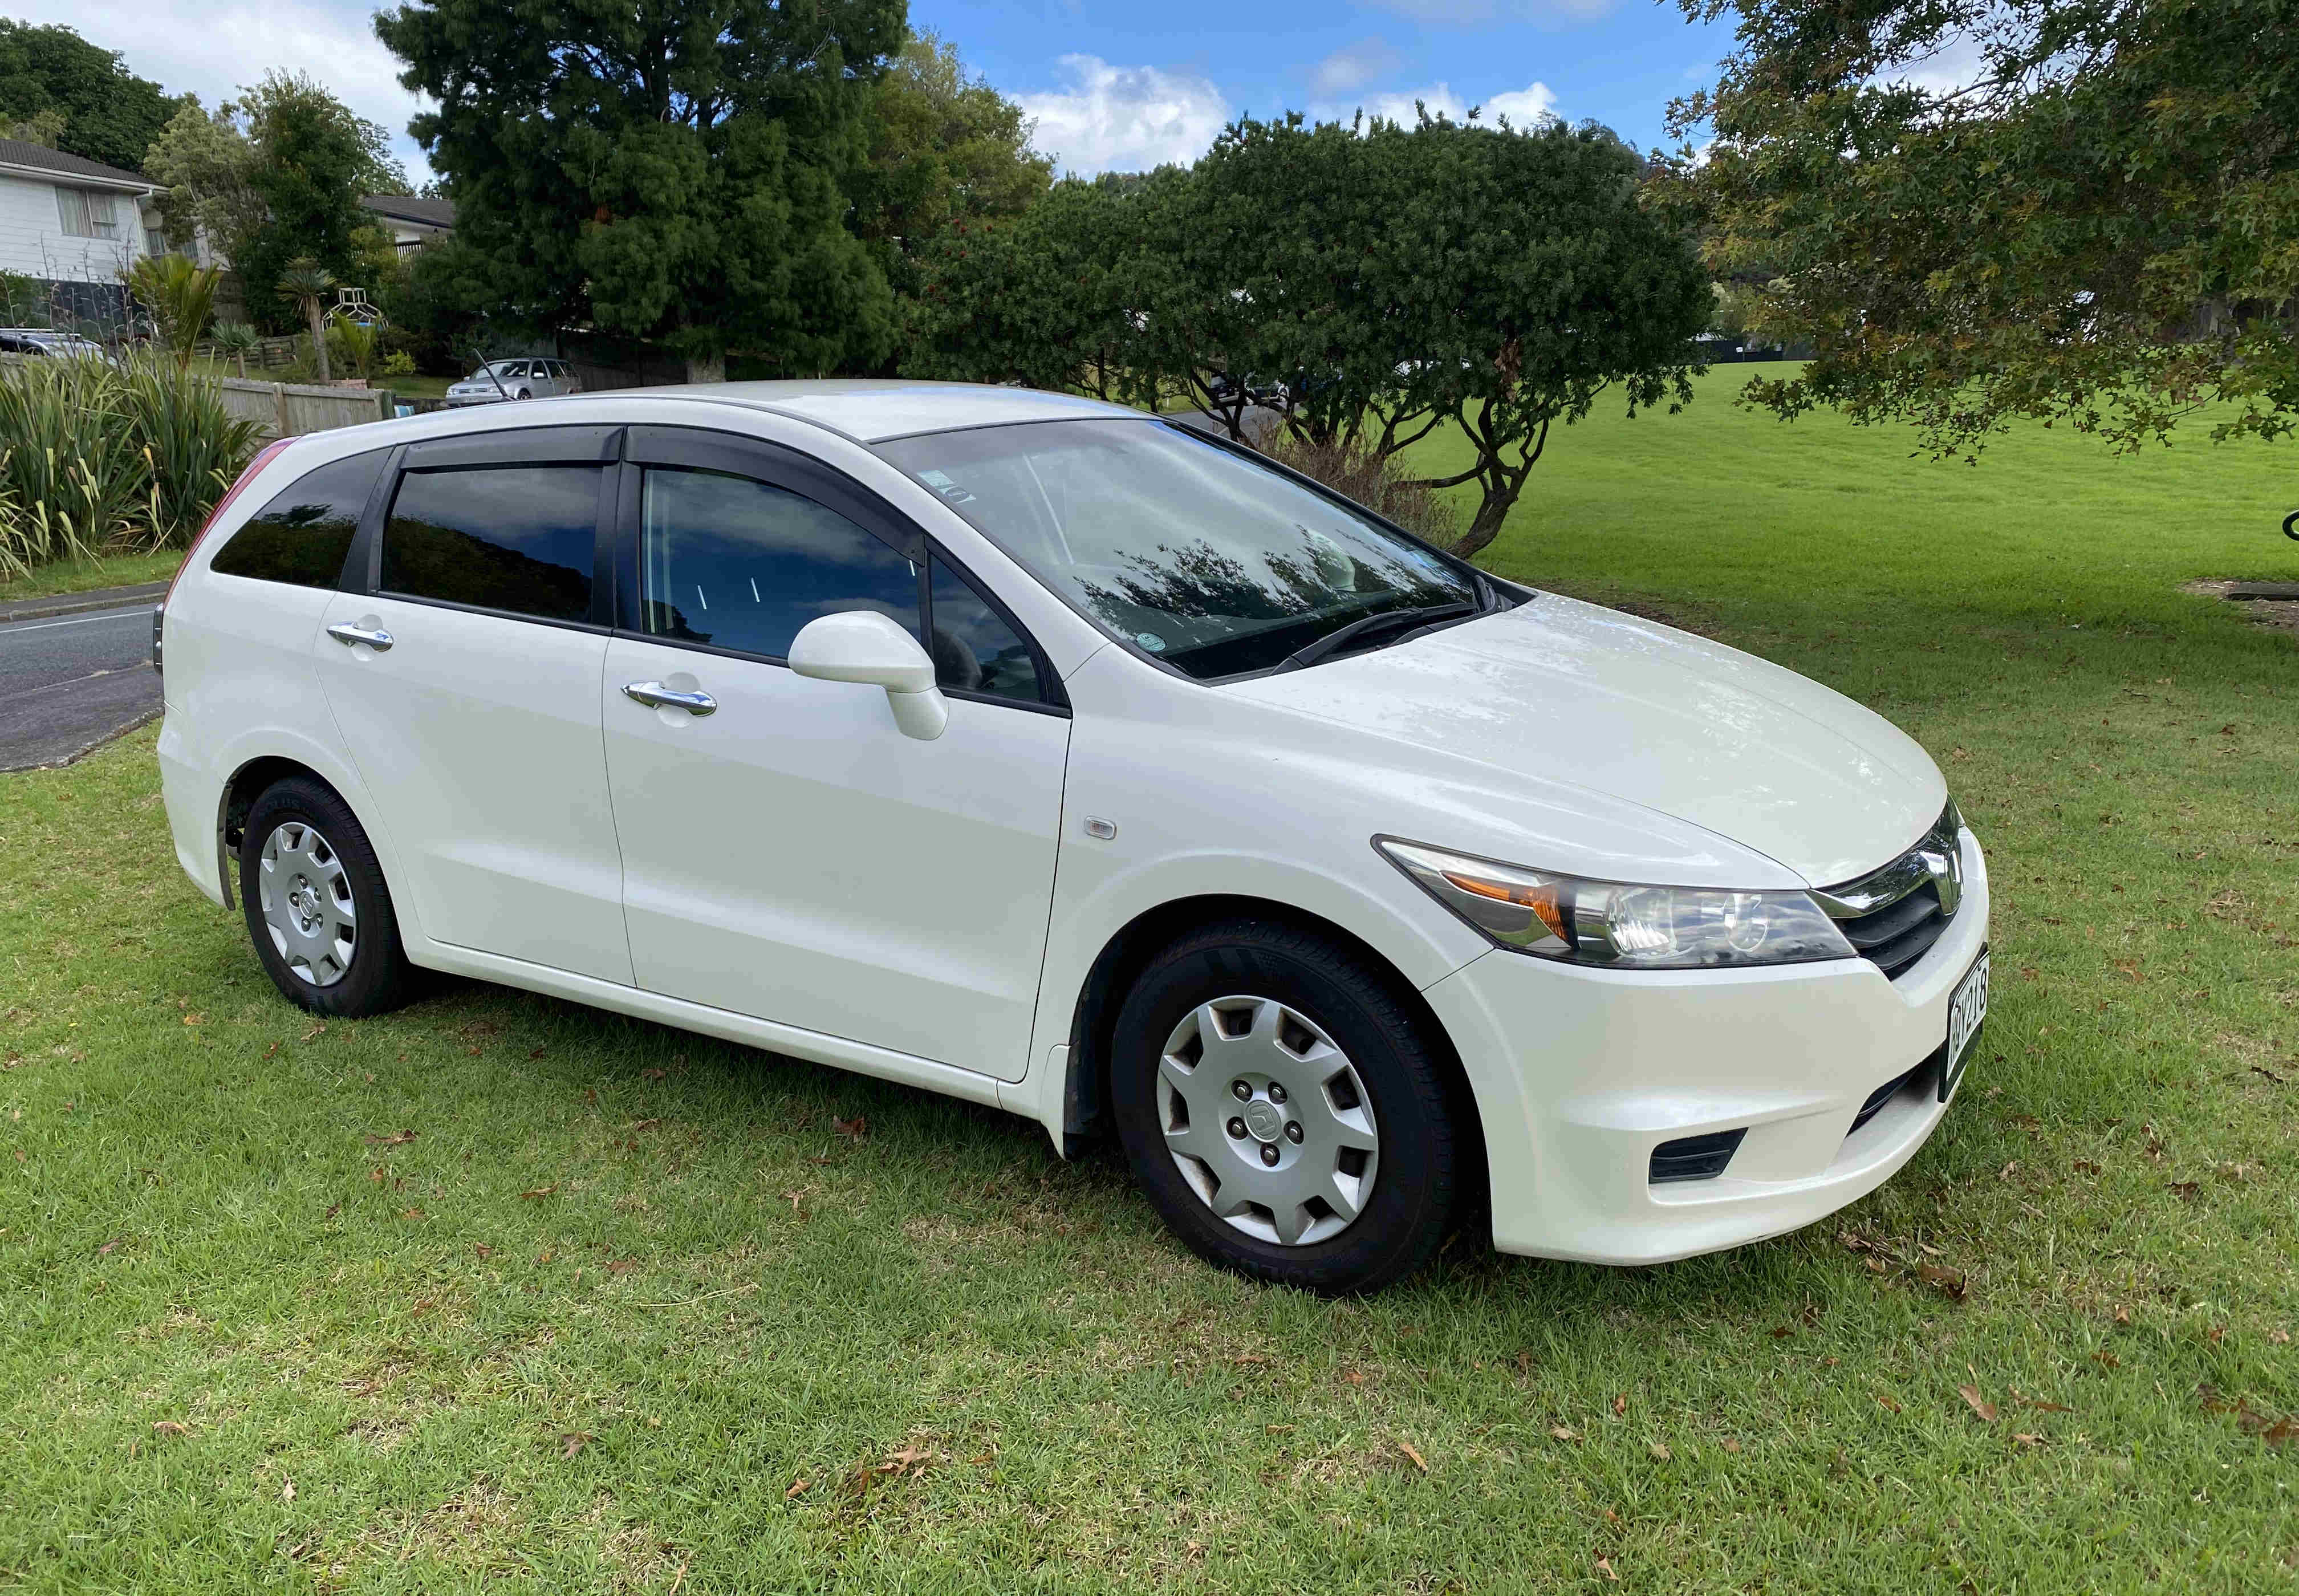
[[[1214,1274],[1113,1154],[453,984],[283,1005],[152,734],[0,777],[0,1589],[2288,1591],[2299,453],[1561,432],[1492,566],[1809,672],[1991,851],[1887,1189],[1662,1269]],[[1441,453],[1441,444],[1432,453]]]

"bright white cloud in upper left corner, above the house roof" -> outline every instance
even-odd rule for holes
[[[191,90],[214,108],[269,69],[308,71],[354,113],[391,131],[409,175],[425,175],[423,152],[407,138],[421,101],[400,87],[400,64],[375,37],[375,9],[359,0],[18,0],[14,16],[64,23],[90,44],[120,51],[129,71],[170,94]]]

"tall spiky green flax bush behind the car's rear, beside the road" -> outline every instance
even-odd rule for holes
[[[149,354],[0,368],[0,577],[189,543],[255,439],[214,384]]]

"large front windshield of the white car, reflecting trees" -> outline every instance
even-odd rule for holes
[[[1483,609],[1478,580],[1363,511],[1161,421],[929,432],[878,455],[1122,642],[1198,678],[1306,665],[1359,628]],[[1359,626],[1366,623],[1366,626]],[[1308,651],[1308,658],[1294,660]]]

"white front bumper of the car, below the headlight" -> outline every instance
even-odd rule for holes
[[[1494,1246],[1664,1263],[1796,1230],[1890,1180],[1947,1111],[1920,1067],[1989,936],[1986,862],[1970,830],[1959,842],[1963,904],[1897,982],[1864,959],[1621,975],[1494,950],[1430,987],[1485,1122]],[[1722,1175],[1651,1182],[1660,1143],[1733,1129],[1747,1136]]]

